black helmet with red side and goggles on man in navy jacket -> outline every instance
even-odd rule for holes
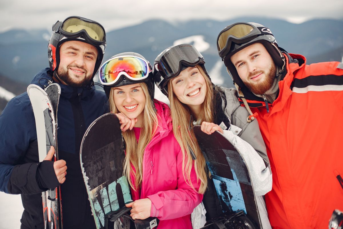
[[[104,58],[106,48],[106,33],[104,27],[96,21],[80,16],[70,16],[63,22],[52,25],[52,35],[48,44],[48,60],[52,71],[58,69],[60,63],[60,46],[67,41],[81,41],[93,45],[98,56],[92,78],[98,71]]]

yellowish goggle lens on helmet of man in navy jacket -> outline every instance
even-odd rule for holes
[[[104,41],[105,32],[101,26],[91,22],[85,22],[79,18],[70,18],[63,22],[62,30],[68,33],[79,33],[85,30],[95,41]]]

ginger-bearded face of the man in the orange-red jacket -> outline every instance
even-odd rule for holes
[[[255,94],[264,94],[275,80],[276,68],[267,49],[255,43],[230,58],[244,84]]]

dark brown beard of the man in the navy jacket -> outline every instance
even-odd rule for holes
[[[68,69],[69,68],[79,68],[82,69],[85,72],[85,77],[84,78],[75,78],[75,77],[71,77],[69,75]],[[73,86],[73,87],[85,87],[86,85],[88,85],[91,80],[92,80],[92,73],[88,74],[88,71],[80,66],[76,66],[76,65],[69,65],[67,66],[67,69],[65,68],[58,68],[57,70],[57,75],[58,77],[63,80],[67,85]]]

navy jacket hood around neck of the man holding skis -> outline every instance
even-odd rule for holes
[[[50,68],[45,68],[42,71],[37,73],[37,75],[31,81],[31,84],[36,84],[39,87],[44,89],[47,85],[49,85],[48,80],[51,80],[54,83],[58,83],[52,79],[52,74],[53,74],[53,71]],[[63,96],[66,99],[80,98],[79,96],[81,96],[80,99],[84,99],[87,96],[94,93],[95,91],[95,87],[82,88],[82,87],[72,87],[69,85],[61,84],[61,83],[58,83],[58,84],[61,87],[61,96]]]

